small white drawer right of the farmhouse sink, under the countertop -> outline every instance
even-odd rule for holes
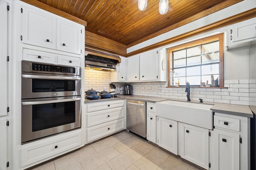
[[[214,115],[214,126],[240,132],[240,119]]]

